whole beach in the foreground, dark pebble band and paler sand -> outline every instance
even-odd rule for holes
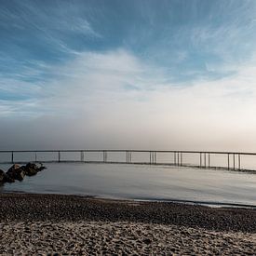
[[[253,255],[256,210],[0,195],[1,255]]]

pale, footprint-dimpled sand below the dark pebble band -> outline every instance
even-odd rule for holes
[[[253,255],[256,249],[255,234],[153,223],[4,222],[0,228],[1,255]]]

